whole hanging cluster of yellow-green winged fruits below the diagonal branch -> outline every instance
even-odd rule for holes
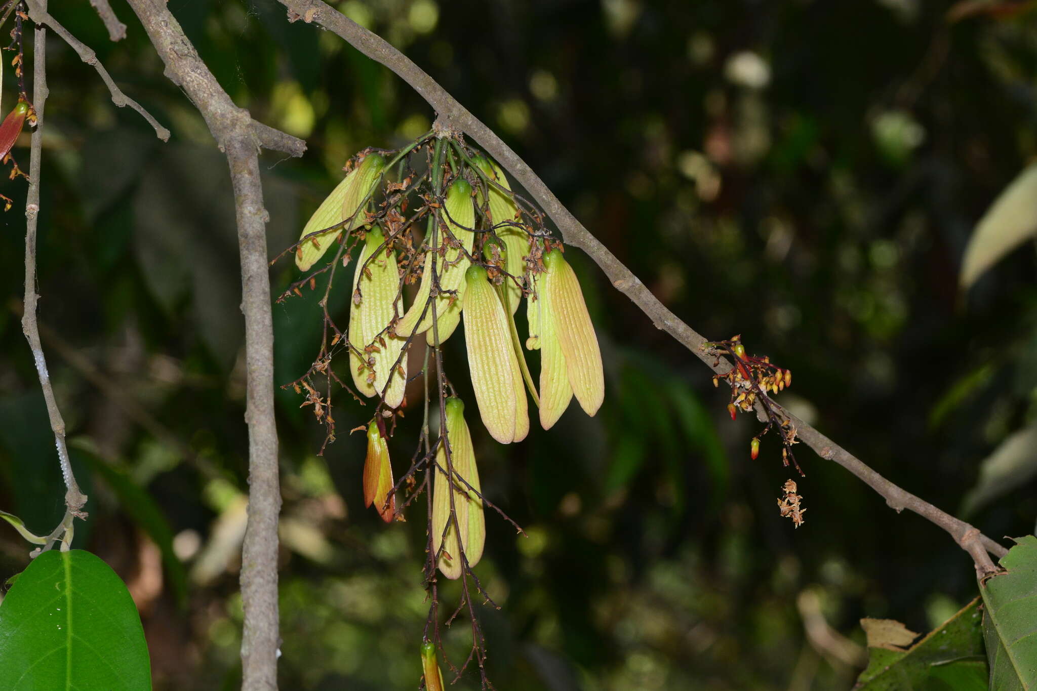
[[[435,149],[436,155],[428,170],[418,173],[409,156],[422,149]],[[416,210],[408,217],[412,203]],[[385,421],[407,405],[407,353],[415,344],[439,349],[464,324],[479,416],[501,443],[528,434],[527,392],[543,429],[558,421],[573,396],[588,414],[601,405],[601,355],[583,293],[561,242],[539,218],[520,204],[496,163],[456,140],[428,138],[400,151],[359,153],[303,230],[296,264],[304,276],[338,248],[328,266],[309,275],[311,285],[312,277],[333,267],[338,257],[344,265],[360,247],[347,334],[335,327],[333,343],[345,337],[357,392],[379,397],[367,426],[364,497],[386,521],[401,516]],[[416,290],[404,290],[413,284]],[[538,386],[515,323],[524,299],[525,346],[540,351]],[[424,467],[435,476],[433,558],[444,575],[457,578],[479,560],[485,527],[465,405],[444,383],[441,372],[431,391],[439,392],[445,425]]]

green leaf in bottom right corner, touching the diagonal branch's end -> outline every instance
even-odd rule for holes
[[[990,688],[1037,689],[1037,538],[1015,541],[1001,559],[1005,573],[980,586]]]

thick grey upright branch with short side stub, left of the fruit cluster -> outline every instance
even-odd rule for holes
[[[271,142],[276,131],[261,128],[257,133],[249,112],[237,108],[223,90],[163,0],[129,2],[166,64],[166,75],[194,102],[230,167],[242,258],[248,371],[245,420],[249,426],[249,521],[242,548],[242,688],[277,689],[277,522],[281,491],[274,420],[274,322],[267,264],[269,215],[263,208],[258,149],[259,142]],[[288,136],[283,135],[282,143],[288,141],[285,138]],[[296,148],[301,153],[305,144]]]

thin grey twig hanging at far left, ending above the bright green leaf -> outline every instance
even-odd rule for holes
[[[46,3],[46,0],[41,1]],[[39,326],[36,323],[36,303],[39,300],[39,295],[36,294],[36,224],[39,213],[44,107],[47,104],[48,94],[47,30],[39,26],[35,27],[33,40],[32,100],[36,112],[36,128],[32,133],[29,190],[25,200],[25,311],[22,315],[22,332],[29,342],[32,359],[36,365],[36,374],[39,376],[39,386],[44,391],[44,400],[47,402],[47,415],[51,421],[51,430],[54,431],[54,443],[57,447],[58,462],[61,464],[61,476],[64,479],[66,490],[64,518],[61,519],[61,524],[48,536],[43,549],[50,549],[54,541],[58,539],[62,541],[62,548],[68,549],[72,543],[74,518],[86,517],[86,514],[83,513],[83,507],[86,506],[86,495],[80,491],[79,485],[76,483],[76,476],[72,471],[68,448],[65,445],[64,420],[61,418],[61,411],[58,410],[57,401],[54,399],[54,386],[51,384],[51,376],[47,371],[47,358],[44,356],[44,347],[39,343]]]

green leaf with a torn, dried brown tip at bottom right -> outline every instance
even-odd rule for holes
[[[868,668],[853,688],[860,691],[986,689],[979,598],[922,640],[905,647],[913,633],[887,620],[862,620],[868,631]],[[884,626],[885,625],[885,626]],[[892,626],[891,626],[892,625]],[[977,673],[977,670],[982,673]]]

